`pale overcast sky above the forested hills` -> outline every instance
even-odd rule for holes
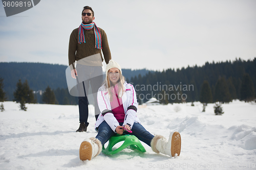
[[[123,68],[162,70],[256,57],[256,1],[50,1],[6,17],[0,7],[0,62],[68,66],[69,36],[83,6]]]

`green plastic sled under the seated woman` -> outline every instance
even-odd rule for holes
[[[123,140],[124,140],[123,144],[119,148],[112,151],[112,148],[114,147],[114,145]],[[110,138],[108,147],[106,147],[106,149],[104,148],[104,145],[102,146],[102,153],[106,154],[106,155],[113,155],[113,154],[116,154],[116,153],[122,151],[123,149],[125,149],[126,147],[129,147],[129,146],[131,146],[132,148],[137,149],[141,152],[146,152],[145,148],[143,147],[143,145],[141,144],[141,142],[139,141],[139,139],[136,136],[134,136],[134,135],[115,135]]]

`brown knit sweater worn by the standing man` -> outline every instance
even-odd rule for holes
[[[109,48],[109,43],[108,43],[108,38],[106,37],[106,33],[104,30],[99,28],[100,34],[101,34],[101,42],[102,42],[102,52],[104,55],[104,59],[106,64],[109,63],[111,60],[111,53],[110,53],[110,48]],[[91,65],[91,66],[102,66],[102,54],[101,50],[95,48],[95,36],[94,36],[94,31],[93,29],[91,30],[84,30],[84,37],[86,38],[86,43],[78,43],[78,28],[72,31],[70,35],[70,40],[69,40],[69,65],[73,65],[75,61],[78,61],[80,59],[95,55],[95,54],[100,54],[101,56],[101,62],[92,62],[88,63],[86,65]],[[81,60],[82,61],[82,60]],[[74,65],[73,65],[73,68]],[[72,67],[71,67],[72,69]]]

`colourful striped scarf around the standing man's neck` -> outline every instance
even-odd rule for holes
[[[101,47],[101,35],[100,35],[100,31],[99,28],[96,26],[95,22],[89,23],[89,24],[83,24],[81,23],[81,25],[79,26],[79,33],[78,33],[78,43],[86,43],[86,38],[84,37],[83,34],[83,29],[85,30],[91,30],[94,29],[94,35],[95,35],[95,48],[98,49],[102,49]]]

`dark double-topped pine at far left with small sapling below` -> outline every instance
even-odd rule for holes
[[[13,93],[13,101],[20,103],[20,110],[27,110],[26,103],[35,103],[33,90],[29,88],[28,81],[22,83],[22,80],[18,80],[16,84],[16,90]]]

